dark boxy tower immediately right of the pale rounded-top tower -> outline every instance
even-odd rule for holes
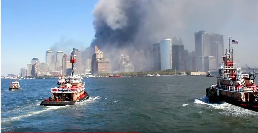
[[[184,45],[172,45],[172,60],[173,70],[185,70]]]

